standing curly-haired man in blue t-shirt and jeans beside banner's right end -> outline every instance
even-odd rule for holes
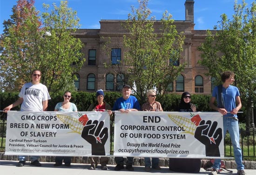
[[[209,106],[223,115],[223,136],[225,137],[226,131],[229,131],[237,164],[237,175],[245,175],[244,165],[242,163],[242,150],[239,144],[238,119],[236,115],[241,109],[242,104],[238,88],[231,85],[235,81],[234,76],[235,74],[230,71],[222,73],[221,79],[223,84],[213,89]],[[217,100],[217,106],[214,104],[215,100]],[[215,159],[210,175],[217,175],[220,170],[220,165],[221,159]]]

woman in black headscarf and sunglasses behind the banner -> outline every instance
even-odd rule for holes
[[[191,95],[189,92],[182,94],[181,102],[179,104],[179,112],[196,112],[196,106],[191,102]]]

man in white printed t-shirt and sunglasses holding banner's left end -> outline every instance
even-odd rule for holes
[[[20,91],[19,99],[13,104],[4,108],[4,112],[11,110],[11,108],[20,106],[20,111],[46,111],[48,106],[48,100],[50,95],[47,87],[40,83],[41,71],[34,70],[31,75],[32,81],[25,83]],[[30,156],[31,164],[37,167],[41,166],[38,161],[39,156]],[[19,162],[18,167],[23,167],[26,164],[27,156],[18,156]]]

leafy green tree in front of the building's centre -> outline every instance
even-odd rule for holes
[[[124,59],[111,66],[116,74],[124,75],[124,82],[130,85],[135,82],[135,94],[143,102],[148,89],[156,88],[159,94],[164,94],[183,71],[184,64],[175,66],[175,63],[182,59],[184,36],[176,31],[168,12],[156,20],[150,17],[148,0],[138,2],[139,7],[132,6],[122,24],[126,30],[122,38]]]

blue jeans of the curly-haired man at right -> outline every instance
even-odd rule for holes
[[[229,131],[229,135],[231,138],[231,143],[234,148],[234,156],[236,161],[236,169],[241,170],[244,169],[244,165],[242,163],[242,150],[239,144],[239,126],[238,121],[232,119],[230,117],[223,117],[223,137],[225,137],[226,132]],[[215,159],[213,168],[220,169],[221,166],[221,159]]]

